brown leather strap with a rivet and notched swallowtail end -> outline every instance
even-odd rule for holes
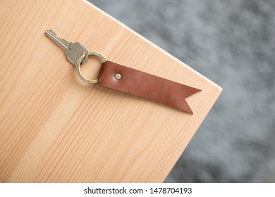
[[[118,79],[119,75],[116,74],[119,74],[121,78]],[[193,111],[185,98],[201,91],[111,61],[102,63],[98,79],[99,84],[104,87],[140,96],[191,114]]]

